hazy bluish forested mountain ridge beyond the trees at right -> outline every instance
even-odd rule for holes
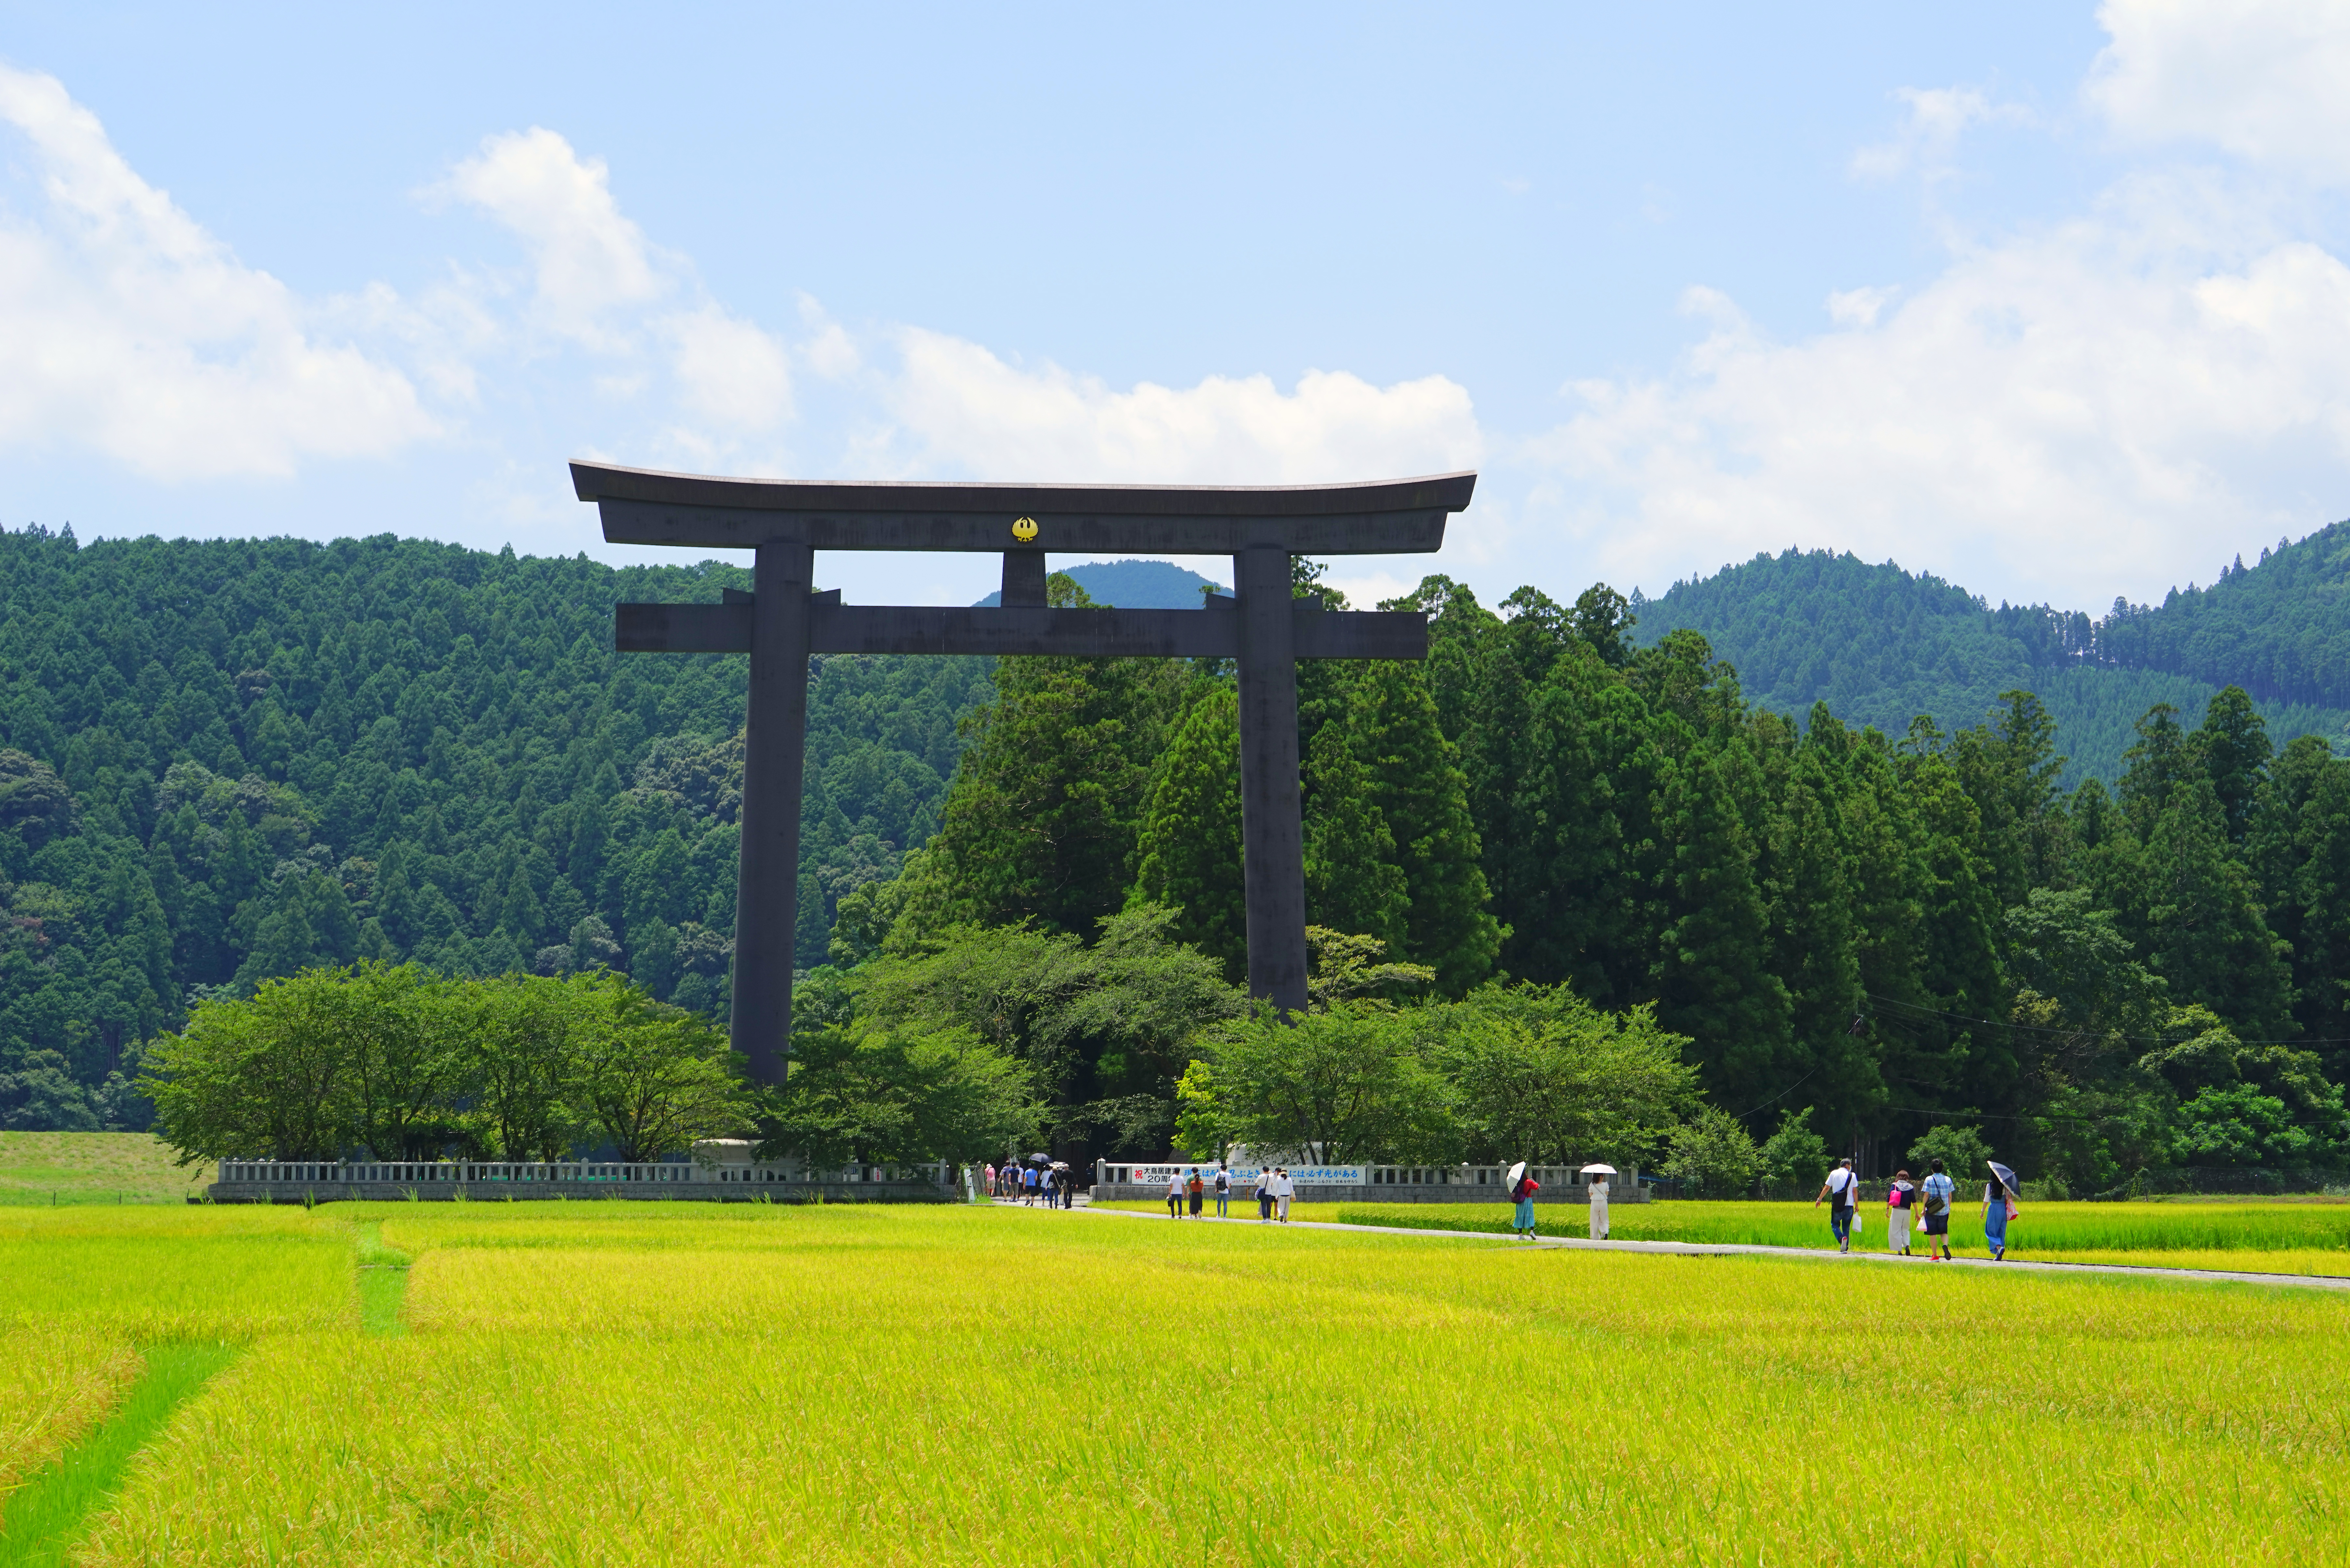
[[[2202,712],[2242,686],[2282,745],[2350,726],[2350,524],[2230,564],[2209,588],[2092,621],[2044,604],[1993,609],[1965,588],[1852,555],[1758,555],[1636,595],[1640,639],[1690,628],[1737,668],[1748,701],[1786,715],[1828,703],[1887,733],[1920,712],[1972,724],[2028,689],[2059,724],[2066,780],[2113,780],[2155,703]]]

